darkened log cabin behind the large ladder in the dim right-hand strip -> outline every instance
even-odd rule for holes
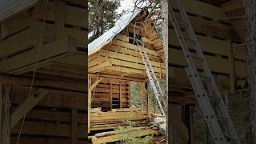
[[[246,30],[242,0],[183,0],[183,5],[221,93],[232,95],[246,89]],[[174,1],[169,2],[169,6],[180,20]],[[197,143],[193,127],[196,100],[184,70],[186,58],[170,20],[168,25],[169,126],[182,143]],[[190,51],[194,53],[192,49]]]

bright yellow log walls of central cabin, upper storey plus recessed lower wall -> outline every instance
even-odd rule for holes
[[[99,87],[96,86],[94,95],[100,96],[101,94],[102,96],[108,97],[102,97],[102,99],[100,99],[92,96],[92,107],[97,107],[96,103],[99,100],[102,100],[103,103],[110,102],[110,93],[108,92],[110,90],[104,90],[104,84],[106,87],[110,87],[110,82],[114,82],[112,83],[113,86],[122,83],[122,86],[124,86],[122,89],[126,89],[123,91],[122,103],[125,107],[129,107],[129,82],[148,81],[145,72],[146,68],[138,51],[138,47],[133,42],[134,29],[138,32],[138,36],[142,42],[145,42],[146,53],[148,54],[155,74],[158,78],[165,77],[166,69],[162,60],[162,42],[154,30],[154,23],[146,22],[145,26],[135,25],[136,22],[144,21],[145,18],[146,15],[144,13],[138,15],[138,17],[117,34],[111,42],[106,44],[106,46],[102,46],[101,50],[90,54],[88,66],[90,76],[93,79],[92,83],[98,78],[103,78],[98,84]],[[102,94],[102,92],[104,93]],[[118,94],[114,95],[113,98],[118,96]],[[106,105],[110,106],[110,104]]]

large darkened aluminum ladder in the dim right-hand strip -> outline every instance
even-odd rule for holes
[[[238,134],[234,130],[228,110],[222,101],[221,94],[181,1],[178,0],[176,4],[170,4],[169,17],[186,58],[188,64],[186,74],[190,79],[190,84],[202,110],[202,115],[215,144],[240,144]],[[179,13],[180,23],[177,21],[173,9]],[[180,25],[183,29],[179,27]],[[189,38],[186,38],[185,34]],[[195,55],[190,53],[189,44],[195,50]],[[194,62],[200,63],[202,72],[198,72]]]

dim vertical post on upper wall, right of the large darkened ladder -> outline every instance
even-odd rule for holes
[[[227,41],[227,48],[229,50],[229,67],[230,67],[230,92],[233,93],[235,90],[235,75],[234,75],[234,55],[231,41]]]

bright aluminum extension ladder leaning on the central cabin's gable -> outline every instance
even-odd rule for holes
[[[136,42],[138,46],[138,50],[141,54],[142,61],[144,62],[144,65],[146,67],[146,75],[149,78],[150,86],[153,88],[154,95],[158,101],[158,105],[160,107],[160,110],[162,112],[162,115],[166,116],[166,101],[164,99],[164,94],[162,93],[162,89],[160,87],[160,84],[158,82],[158,78],[154,74],[153,67],[151,66],[150,59],[148,58],[146,54],[146,50],[144,47],[144,42],[141,42],[138,40],[138,38],[134,38],[134,41]]]

